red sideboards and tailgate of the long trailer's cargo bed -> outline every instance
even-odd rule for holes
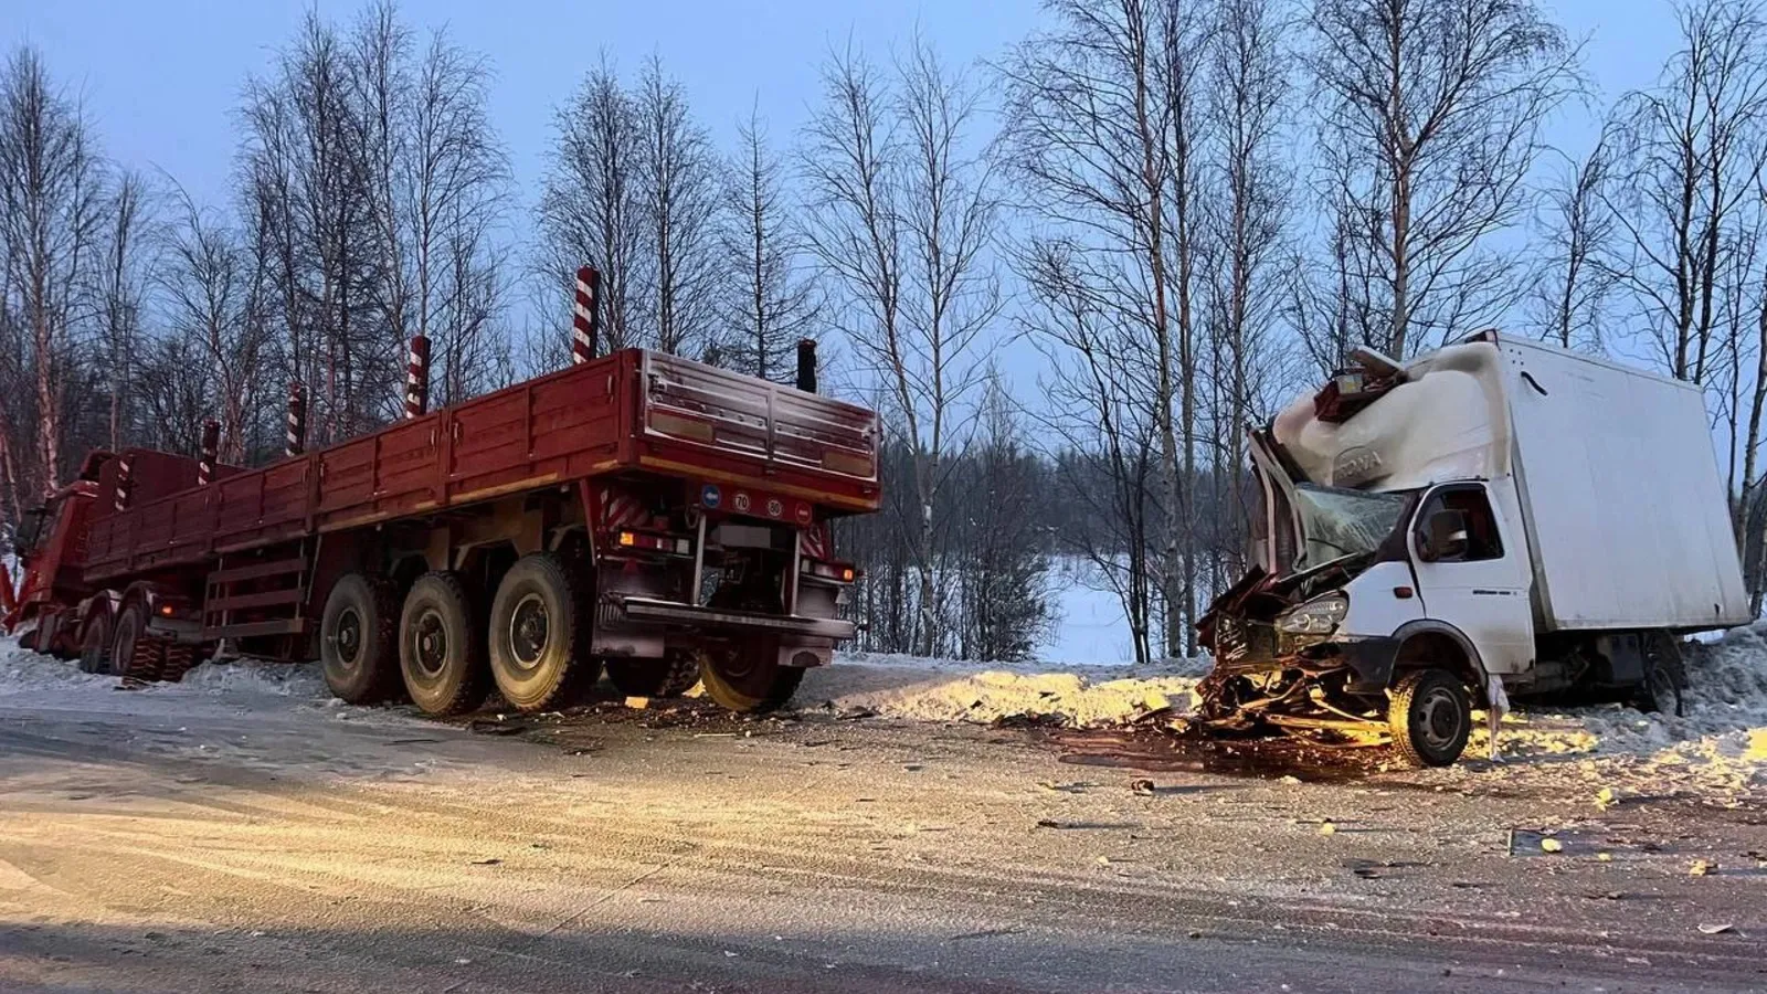
[[[878,508],[876,416],[638,348],[92,520],[92,582],[627,470]]]

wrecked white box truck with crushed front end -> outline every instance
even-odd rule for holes
[[[1198,723],[1444,766],[1498,688],[1679,709],[1680,637],[1749,621],[1698,387],[1495,331],[1354,359],[1253,432]]]

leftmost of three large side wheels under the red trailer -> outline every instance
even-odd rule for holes
[[[350,573],[320,616],[320,670],[332,697],[378,704],[399,692],[399,594],[392,580]]]

